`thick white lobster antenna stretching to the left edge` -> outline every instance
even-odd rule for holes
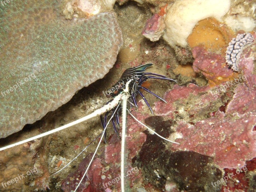
[[[50,134],[52,134],[52,133],[58,132],[58,131],[60,131],[60,130],[66,129],[66,128],[68,128],[68,127],[71,127],[71,126],[73,126],[73,125],[79,124],[79,123],[81,123],[81,122],[83,122],[83,121],[86,121],[86,120],[88,120],[88,119],[91,119],[92,117],[101,115],[101,114],[105,113],[106,111],[109,111],[109,110],[111,110],[112,108],[116,107],[116,105],[118,104],[118,102],[121,100],[122,97],[123,97],[123,94],[119,94],[119,95],[117,95],[117,96],[113,99],[113,101],[111,101],[111,102],[108,103],[107,105],[104,105],[103,107],[97,109],[96,111],[94,111],[93,113],[91,113],[91,114],[89,114],[89,115],[87,115],[87,116],[85,116],[85,117],[82,117],[82,118],[80,118],[80,119],[78,119],[78,120],[76,120],[76,121],[73,121],[73,122],[71,122],[71,123],[69,123],[69,124],[63,125],[63,126],[61,126],[61,127],[59,127],[59,128],[53,129],[53,130],[51,130],[51,131],[44,132],[44,133],[42,133],[42,134],[40,134],[40,135],[36,135],[36,136],[31,137],[31,138],[28,138],[28,139],[26,139],[26,140],[19,141],[19,142],[17,142],[17,143],[14,143],[14,144],[11,144],[11,145],[2,147],[2,148],[0,148],[0,151],[3,151],[3,150],[5,150],[5,149],[11,148],[11,147],[15,147],[15,146],[20,145],[20,144],[23,144],[23,143],[27,143],[28,141],[32,141],[32,140],[35,140],[35,139],[44,137],[44,136],[46,136],[46,135],[50,135]]]

